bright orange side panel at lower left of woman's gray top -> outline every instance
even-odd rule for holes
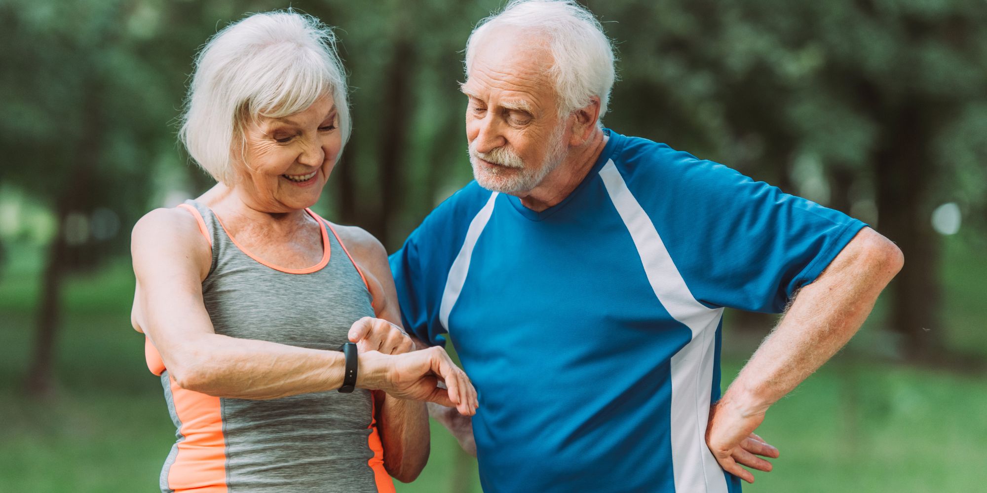
[[[168,486],[175,491],[226,493],[226,443],[219,397],[179,387],[171,379],[175,412],[185,436],[168,471]]]

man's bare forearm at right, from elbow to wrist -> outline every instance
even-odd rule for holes
[[[819,278],[802,288],[723,401],[763,413],[829,360],[857,332],[877,295],[901,269],[900,250],[864,229]]]

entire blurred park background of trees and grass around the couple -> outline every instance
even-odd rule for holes
[[[904,270],[768,413],[747,491],[983,491],[987,3],[584,1],[606,125],[872,225]],[[353,134],[317,212],[389,250],[466,184],[462,49],[499,0],[292,1],[338,26]],[[212,180],[176,144],[196,49],[283,1],[0,0],[0,491],[155,491],[174,428],[130,328],[129,232]],[[731,313],[723,385],[773,317]],[[478,492],[433,426],[399,492]],[[543,458],[551,460],[551,458]],[[537,466],[518,458],[518,467]]]

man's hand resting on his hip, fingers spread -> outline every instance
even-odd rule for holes
[[[764,410],[745,411],[725,396],[710,408],[706,445],[723,470],[748,483],[754,482],[754,474],[740,464],[770,472],[771,462],[757,456],[778,458],[778,449],[754,434],[764,421],[764,413]]]

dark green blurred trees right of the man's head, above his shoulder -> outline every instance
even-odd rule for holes
[[[987,96],[987,36],[976,29],[987,4],[592,7],[617,21],[605,23],[611,36],[627,40],[608,121],[870,222],[907,259],[889,289],[900,349],[943,350],[930,217],[953,200],[973,216],[985,210],[984,138],[953,136],[982,134],[987,124],[975,109]]]

